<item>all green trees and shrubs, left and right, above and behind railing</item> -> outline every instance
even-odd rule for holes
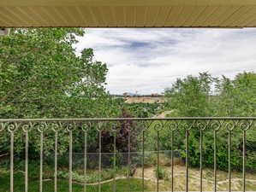
[[[198,77],[188,76],[177,79],[165,96],[166,103],[126,103],[122,98],[112,99],[105,90],[108,69],[102,61],[95,61],[92,49],[83,49],[75,53],[76,38],[85,32],[79,28],[38,28],[13,29],[10,36],[0,38],[0,118],[95,118],[95,117],[124,117],[148,118],[155,117],[161,112],[170,111],[170,117],[228,117],[228,116],[256,116],[256,73],[239,73],[234,80],[227,77],[213,78],[209,73],[199,73]],[[156,150],[157,131],[152,123],[146,131],[145,150]],[[232,122],[230,122],[232,124]],[[38,126],[38,125],[35,125]],[[51,130],[44,132],[44,177],[45,191],[52,191],[53,183],[53,150],[54,134]],[[63,130],[68,125],[63,124]],[[84,131],[81,125],[73,131],[74,154],[83,151]],[[141,151],[141,122],[130,120],[122,122],[108,122],[103,124],[102,152],[114,152],[114,132],[116,129],[116,150],[120,152],[116,158],[118,170],[104,168],[101,179],[108,180],[115,174],[125,175],[123,164],[127,164],[128,138],[132,152]],[[35,127],[36,128],[36,127]],[[98,125],[90,124],[87,137],[87,151],[98,152]],[[164,127],[161,130],[160,148],[170,150],[171,131]],[[129,132],[129,131],[130,132]],[[204,160],[203,166],[213,166],[213,137],[212,130],[204,131]],[[130,134],[130,135],[129,135]],[[185,131],[175,131],[174,149],[184,160]],[[242,131],[232,131],[231,167],[241,171],[242,167]],[[188,151],[189,166],[199,167],[199,126],[193,125],[189,131]],[[222,127],[217,132],[217,166],[219,170],[228,170],[227,137],[228,131]],[[1,154],[9,155],[9,133],[0,134]],[[30,191],[38,190],[39,179],[39,131],[29,132],[29,178]],[[68,153],[68,132],[58,133],[58,177],[60,191],[67,189],[68,159],[62,157]],[[24,170],[24,132],[15,132],[15,191],[23,191]],[[247,131],[247,171],[256,172],[256,131]],[[121,154],[122,153],[122,154]],[[141,166],[141,155],[133,154],[132,163]],[[97,159],[97,157],[96,157]],[[89,183],[96,182],[99,174],[98,161],[88,160],[88,174],[81,173],[83,160],[74,155],[73,177],[74,191],[81,191],[85,179]],[[108,158],[106,164],[112,166],[113,158]],[[124,163],[123,163],[124,161]],[[164,162],[165,161],[165,162]],[[155,154],[145,155],[145,166],[152,168],[157,162]],[[170,164],[170,155],[161,156],[159,170],[155,170],[155,177],[168,179],[170,172],[166,167]],[[9,190],[9,160],[1,157],[0,191]],[[132,165],[133,168],[133,165]],[[129,170],[130,176],[136,172]],[[210,173],[209,173],[210,174]],[[211,180],[211,179],[210,179]],[[165,181],[162,181],[163,183]],[[112,183],[103,183],[103,191],[110,191]],[[140,180],[118,180],[117,191],[141,190]],[[128,188],[129,185],[129,188]],[[89,185],[88,190],[96,191],[97,185]],[[152,189],[152,188],[150,188]],[[253,189],[253,187],[252,187]]]

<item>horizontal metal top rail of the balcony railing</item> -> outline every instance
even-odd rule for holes
[[[256,117],[176,117],[176,118],[74,118],[74,119],[0,119],[3,122],[82,122],[82,121],[125,121],[125,120],[256,120]]]

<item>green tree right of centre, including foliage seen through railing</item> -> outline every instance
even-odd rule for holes
[[[198,77],[189,75],[185,79],[177,79],[164,95],[169,98],[166,108],[172,111],[171,117],[209,117],[214,113],[212,104],[211,87],[216,79],[209,73],[199,73]],[[191,121],[187,122],[189,125]],[[152,138],[156,138],[156,131],[151,131]],[[171,131],[166,128],[161,132],[161,148],[171,148]],[[199,127],[193,125],[189,131],[189,156],[190,166],[199,166]],[[155,139],[153,139],[155,140]],[[153,143],[153,141],[152,141]],[[212,143],[211,143],[212,144]],[[182,149],[182,157],[185,158],[185,131],[180,128],[175,132],[175,149]]]

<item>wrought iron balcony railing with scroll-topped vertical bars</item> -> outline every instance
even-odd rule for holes
[[[83,146],[83,174],[86,176],[87,174],[87,163],[88,163],[88,143],[87,137],[88,132],[98,131],[98,191],[102,190],[101,187],[101,177],[100,173],[102,172],[102,148],[103,146],[103,139],[104,136],[102,135],[104,131],[110,131],[112,134],[112,151],[113,151],[113,160],[112,166],[113,169],[116,170],[116,154],[118,153],[116,148],[116,132],[118,132],[118,125],[122,124],[122,128],[124,127],[127,130],[127,150],[126,153],[128,154],[126,158],[127,160],[127,177],[130,177],[129,172],[131,171],[131,137],[132,131],[135,131],[136,136],[140,135],[141,141],[141,186],[142,190],[145,189],[145,142],[148,139],[147,131],[153,130],[156,133],[156,154],[157,154],[157,165],[156,169],[158,172],[159,169],[159,151],[160,151],[160,141],[161,131],[166,130],[170,133],[170,137],[167,139],[170,140],[170,160],[171,160],[171,172],[170,172],[170,191],[175,190],[174,186],[174,143],[176,137],[174,133],[176,131],[183,131],[184,132],[184,155],[183,160],[185,161],[185,170],[184,177],[186,177],[186,183],[184,186],[185,191],[189,191],[189,139],[190,131],[198,131],[199,133],[199,191],[203,191],[203,172],[204,172],[204,134],[205,132],[211,132],[212,139],[213,139],[213,174],[214,174],[214,183],[212,185],[212,190],[217,191],[217,141],[218,141],[218,132],[219,131],[226,131],[227,138],[222,138],[227,140],[227,151],[228,151],[228,174],[229,174],[229,191],[232,190],[232,154],[231,154],[231,146],[232,146],[232,134],[237,134],[237,132],[241,133],[241,172],[242,172],[242,190],[246,191],[246,166],[247,166],[247,131],[255,130],[256,129],[256,118],[164,118],[164,119],[0,119],[0,139],[3,137],[9,137],[8,145],[5,143],[5,152],[9,150],[9,190],[10,192],[14,192],[14,164],[15,164],[15,138],[20,137],[23,140],[24,138],[24,160],[25,160],[25,170],[24,170],[24,191],[27,192],[29,188],[29,181],[28,181],[28,163],[29,163],[29,143],[30,143],[30,135],[33,132],[39,133],[39,192],[43,192],[43,182],[44,182],[44,143],[45,143],[45,134],[51,134],[53,137],[53,150],[54,150],[54,188],[52,191],[58,191],[58,148],[60,147],[60,143],[58,139],[60,137],[68,137],[68,190],[71,192],[73,190],[73,138],[74,138],[74,131],[79,130],[79,137],[83,137],[83,143],[80,143]],[[137,127],[136,129],[134,127]],[[138,128],[139,127],[139,128]],[[8,132],[8,135],[6,134]],[[67,133],[67,136],[63,132]],[[22,133],[22,134],[21,134]],[[61,134],[62,133],[62,134]],[[1,136],[2,134],[2,136]],[[82,134],[82,135],[81,135]],[[76,136],[77,133],[76,133]],[[47,138],[49,139],[49,138]],[[0,146],[1,146],[0,140]],[[2,143],[3,144],[3,143]],[[138,148],[137,148],[138,150]],[[22,152],[23,153],[23,152]],[[1,153],[0,153],[1,154]],[[0,172],[1,174],[1,172]],[[159,191],[159,178],[157,177],[156,183],[156,191]],[[83,190],[86,191],[88,183],[86,181],[83,183]],[[118,191],[116,189],[116,175],[113,177],[113,191]]]

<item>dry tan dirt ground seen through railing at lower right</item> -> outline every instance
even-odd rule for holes
[[[146,180],[150,180],[154,183],[157,182],[157,177],[154,170],[157,166],[147,167],[144,169],[144,177]],[[159,180],[160,188],[162,191],[170,189],[171,180],[171,166],[164,166],[164,169],[168,172],[168,177],[164,180]],[[174,166],[174,189],[185,190],[186,186],[186,167],[185,166]],[[137,168],[134,173],[134,177],[142,177],[142,168]],[[232,190],[242,190],[242,177],[238,173],[232,173],[231,179]],[[200,187],[200,171],[199,169],[189,168],[188,173],[189,190],[199,191]],[[202,186],[204,191],[212,191],[214,186],[214,175],[213,170],[204,169],[202,177]],[[229,179],[227,172],[217,171],[217,190],[228,190]],[[247,178],[247,190],[256,189],[256,175],[250,174],[250,178]]]

